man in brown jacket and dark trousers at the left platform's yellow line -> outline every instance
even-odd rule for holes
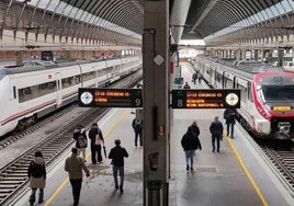
[[[87,176],[90,176],[90,171],[86,167],[83,159],[78,156],[77,148],[72,148],[71,156],[66,159],[65,171],[68,172],[69,182],[72,187],[74,206],[78,206],[82,184],[82,171],[86,172]]]

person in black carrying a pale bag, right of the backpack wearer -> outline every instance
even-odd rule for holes
[[[104,138],[97,123],[93,123],[89,130],[89,139],[91,141],[92,163],[102,162],[101,148],[104,145]]]

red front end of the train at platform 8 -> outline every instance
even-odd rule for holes
[[[267,136],[294,139],[294,73],[259,73],[253,82],[255,104],[268,125]]]

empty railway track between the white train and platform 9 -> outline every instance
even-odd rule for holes
[[[136,72],[132,77],[124,78],[120,84],[112,85],[112,88],[132,88],[139,80],[142,80],[142,72]],[[100,118],[102,118],[102,116],[109,110],[110,108],[87,110],[84,113],[72,118],[70,122],[60,126],[57,130],[54,130],[48,136],[44,137],[41,142],[27,149],[14,161],[2,167],[0,169],[0,205],[5,205],[10,199],[25,188],[29,182],[27,168],[36,150],[42,150],[46,162],[46,168],[49,168],[49,165],[54,164],[55,160],[72,145],[72,131],[77,125],[82,124],[86,127],[89,127],[93,122],[98,122]],[[55,117],[57,118],[58,116],[60,115]],[[39,127],[36,127],[35,129]],[[33,130],[33,128],[29,129],[24,131],[24,134],[32,133]],[[19,137],[21,136],[22,135],[19,134]],[[8,139],[7,141],[12,144],[11,139]],[[2,145],[5,147],[9,144],[5,144],[4,140],[2,141]]]

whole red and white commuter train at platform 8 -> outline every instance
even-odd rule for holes
[[[294,73],[260,61],[196,57],[192,64],[215,89],[240,89],[240,124],[258,137],[294,138]]]

